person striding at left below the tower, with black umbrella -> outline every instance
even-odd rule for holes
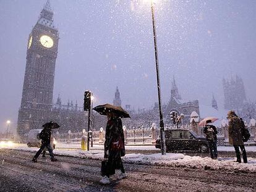
[[[49,151],[49,155],[51,156],[51,161],[57,161],[57,159],[54,158],[53,149],[51,148],[51,129],[52,128],[59,128],[58,123],[49,122],[43,125],[43,130],[41,130],[41,133],[40,133],[41,147],[33,157],[32,159],[33,162],[37,162],[37,158],[40,156],[41,152],[45,148],[47,148]]]

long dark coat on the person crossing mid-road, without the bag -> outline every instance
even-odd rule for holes
[[[118,153],[111,152],[112,143],[116,141],[119,137],[121,137],[124,143],[124,130],[122,129],[122,120],[119,117],[113,117],[108,120],[106,125],[106,135],[104,143],[105,158],[108,158],[110,154],[113,154],[115,156],[114,159],[118,159],[121,156],[124,156],[125,149],[122,149],[122,151],[119,151]],[[107,151],[109,154],[107,154]]]

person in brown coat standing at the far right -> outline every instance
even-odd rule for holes
[[[229,135],[229,144],[234,146],[236,151],[236,162],[241,163],[241,153],[239,148],[242,151],[242,158],[244,163],[247,163],[247,155],[244,148],[244,141],[242,136],[242,129],[244,127],[244,122],[242,119],[237,117],[234,111],[228,112],[229,125],[228,125],[228,135]]]

